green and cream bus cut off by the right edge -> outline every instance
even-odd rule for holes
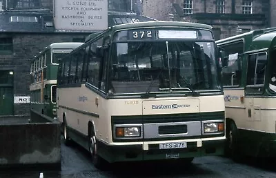
[[[276,28],[216,41],[226,106],[226,153],[276,156]]]

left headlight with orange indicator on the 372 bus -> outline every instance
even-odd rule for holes
[[[115,139],[139,139],[142,137],[142,126],[140,124],[139,126],[137,126],[137,124],[133,126],[130,124],[115,125],[114,128]]]

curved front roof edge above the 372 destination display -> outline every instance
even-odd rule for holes
[[[190,28],[205,28],[212,30],[212,26],[202,24],[202,23],[191,23],[191,22],[182,22],[182,21],[145,21],[139,23],[126,23],[117,26],[112,26],[113,30],[121,30],[124,28],[146,28],[146,27],[170,27],[170,26],[179,26],[179,27],[190,27]]]

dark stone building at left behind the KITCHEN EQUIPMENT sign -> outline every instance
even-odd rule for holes
[[[51,43],[84,41],[94,32],[57,30],[53,7],[53,0],[0,0],[0,116],[29,115],[34,55]],[[108,26],[148,21],[140,8],[140,1],[108,0]]]

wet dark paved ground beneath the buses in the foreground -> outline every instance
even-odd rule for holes
[[[43,172],[44,178],[82,177],[276,177],[276,164],[245,159],[237,163],[226,157],[201,157],[190,166],[171,163],[119,164],[107,171],[99,171],[89,159],[89,154],[77,144],[70,147],[61,145],[61,171],[0,172],[0,177],[37,177]]]

